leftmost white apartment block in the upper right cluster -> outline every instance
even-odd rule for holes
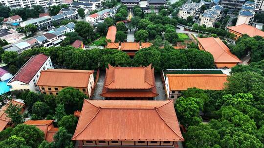
[[[199,8],[200,8],[199,3],[187,2],[181,8],[179,8],[178,17],[181,19],[187,19],[188,17],[195,17]]]

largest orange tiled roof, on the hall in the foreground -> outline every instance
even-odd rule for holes
[[[172,100],[85,100],[72,140],[184,139]]]

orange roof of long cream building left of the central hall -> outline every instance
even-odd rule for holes
[[[38,86],[88,87],[93,71],[49,69],[41,72]]]

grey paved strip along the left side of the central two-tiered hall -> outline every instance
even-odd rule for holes
[[[102,97],[100,94],[102,93],[102,90],[103,90],[105,76],[106,76],[106,72],[101,71],[100,75],[99,75],[98,82],[96,84],[96,87],[95,87],[95,90],[93,93],[92,99],[94,99],[94,100],[103,100],[104,99],[104,97]]]

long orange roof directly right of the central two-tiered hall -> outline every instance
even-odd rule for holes
[[[166,74],[170,90],[183,91],[196,87],[203,90],[222,90],[226,74]]]

